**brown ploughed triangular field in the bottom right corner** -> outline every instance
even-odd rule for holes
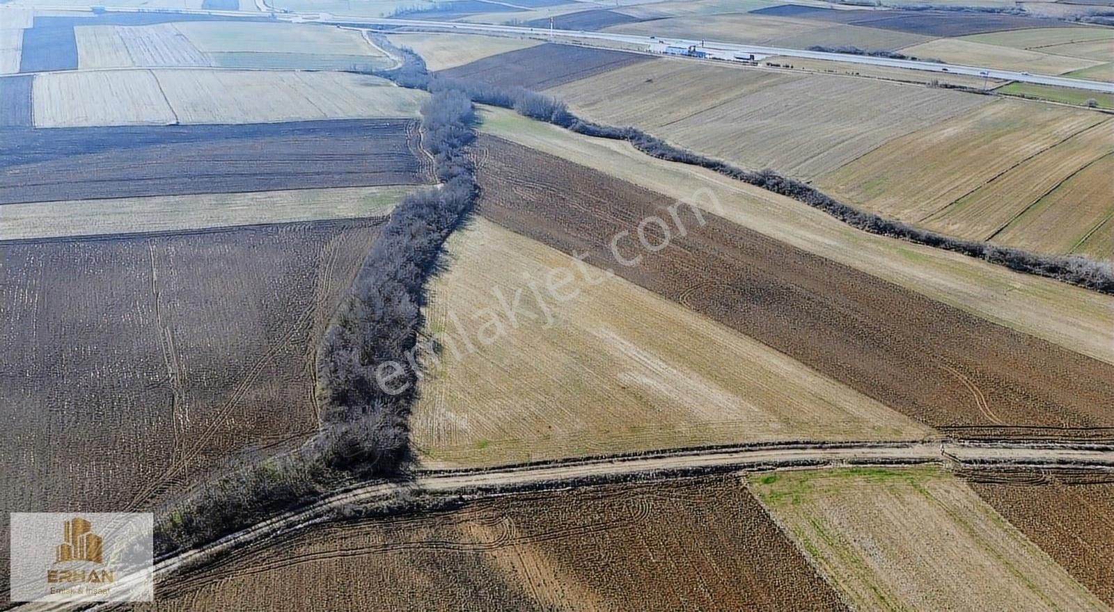
[[[969,475],[968,484],[1091,592],[1114,605],[1114,480],[1053,472],[984,473]]]

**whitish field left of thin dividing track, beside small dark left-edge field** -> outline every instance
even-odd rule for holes
[[[35,126],[167,125],[176,118],[149,70],[36,75]]]

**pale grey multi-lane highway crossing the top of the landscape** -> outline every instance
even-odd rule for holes
[[[266,7],[264,0],[256,0],[256,7]],[[42,6],[36,7],[39,10],[75,10],[75,7],[66,6]],[[3,7],[0,6],[0,11]],[[134,8],[110,8],[114,12],[150,12],[144,9]],[[214,14],[221,17],[258,18],[266,12],[242,12],[242,11],[217,11],[203,9],[176,9],[184,14]],[[2,14],[2,12],[0,12]],[[868,66],[885,66],[890,68],[908,68],[924,70],[928,72],[948,72],[951,75],[966,75],[971,77],[986,77],[988,79],[1004,81],[1019,81],[1034,85],[1047,85],[1054,87],[1071,87],[1074,89],[1085,89],[1103,93],[1114,93],[1114,82],[1093,81],[1086,79],[1073,79],[1068,77],[1055,77],[1048,75],[1033,75],[1026,71],[1000,70],[997,68],[985,68],[978,66],[961,66],[955,63],[937,63],[931,61],[913,61],[889,58],[873,58],[869,56],[853,56],[849,53],[827,53],[823,51],[805,51],[803,49],[785,49],[782,47],[762,47],[758,45],[737,45],[734,42],[723,42],[715,40],[688,40],[680,38],[656,38],[653,36],[620,34],[614,32],[589,32],[580,30],[549,30],[547,28],[526,28],[521,26],[496,26],[489,23],[466,23],[461,21],[428,21],[424,19],[394,19],[394,18],[363,18],[363,17],[338,17],[330,13],[319,12],[272,12],[275,18],[282,21],[306,22],[306,23],[329,23],[346,26],[405,26],[422,28],[426,30],[439,30],[448,32],[471,32],[490,34],[512,34],[534,38],[553,38],[561,40],[607,40],[613,42],[624,42],[639,47],[649,48],[655,43],[674,45],[678,47],[704,46],[711,49],[720,49],[732,53],[758,56],[781,56],[789,58],[808,58],[829,61],[842,61],[847,63],[860,63]]]

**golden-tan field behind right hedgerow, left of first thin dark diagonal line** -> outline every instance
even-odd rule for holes
[[[996,100],[890,140],[820,177],[817,186],[886,216],[922,221],[1014,165],[1104,119],[1098,112]],[[1032,194],[1029,201],[1039,196]]]

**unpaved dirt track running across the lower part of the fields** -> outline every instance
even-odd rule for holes
[[[833,467],[842,465],[902,466],[944,464],[952,467],[988,466],[1045,470],[1056,466],[1075,470],[1114,472],[1114,451],[1106,446],[1068,446],[1009,442],[945,443],[939,441],[784,443],[755,444],[731,448],[705,448],[639,456],[595,457],[579,461],[525,464],[485,470],[420,470],[408,482],[370,482],[325,497],[309,507],[285,512],[262,521],[212,544],[159,560],[156,580],[175,571],[204,563],[251,542],[290,536],[309,525],[328,522],[334,513],[352,503],[388,500],[403,492],[433,494],[498,495],[530,486],[564,488],[602,480],[625,477],[664,478],[676,474],[706,471],[744,472],[793,467]],[[127,589],[135,581],[125,578],[114,589]],[[91,602],[86,602],[91,603]],[[28,603],[17,610],[50,610],[49,603]],[[92,610],[114,604],[94,605]]]

